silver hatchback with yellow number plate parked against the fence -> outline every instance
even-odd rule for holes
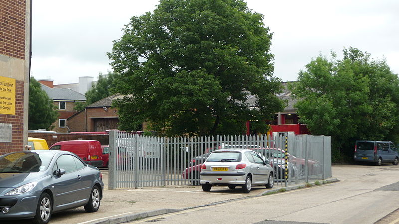
[[[273,168],[267,159],[249,149],[220,149],[213,151],[201,166],[202,190],[210,191],[213,185],[230,189],[242,186],[249,193],[252,186],[274,184]]]

